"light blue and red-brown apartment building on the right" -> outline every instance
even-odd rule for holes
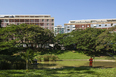
[[[86,29],[89,27],[98,29],[109,29],[116,25],[116,19],[88,19],[88,20],[70,20],[64,24],[65,33],[76,29]]]

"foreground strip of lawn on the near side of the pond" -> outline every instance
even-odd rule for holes
[[[116,68],[61,68],[29,70],[0,70],[0,77],[116,77]]]

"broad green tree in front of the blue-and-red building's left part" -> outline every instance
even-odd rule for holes
[[[86,30],[76,30],[71,33],[56,36],[56,39],[64,46],[76,46],[76,49],[92,55],[96,52],[97,37],[104,32],[102,29],[87,28]],[[69,48],[69,47],[68,47]]]

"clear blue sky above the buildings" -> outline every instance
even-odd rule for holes
[[[0,15],[51,15],[54,25],[70,20],[116,18],[116,0],[0,0]]]

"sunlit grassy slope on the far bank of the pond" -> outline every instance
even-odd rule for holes
[[[47,53],[47,52],[46,52]],[[47,53],[47,54],[55,54],[59,57],[59,59],[89,59],[90,56],[87,56],[84,53],[79,53],[79,52],[72,52],[72,51],[60,51],[56,50],[52,53]],[[40,55],[37,53],[36,55]],[[44,55],[44,54],[41,54]],[[102,59],[102,60],[114,60],[114,58],[109,57],[109,56],[100,56],[100,57],[95,57],[95,59]]]

